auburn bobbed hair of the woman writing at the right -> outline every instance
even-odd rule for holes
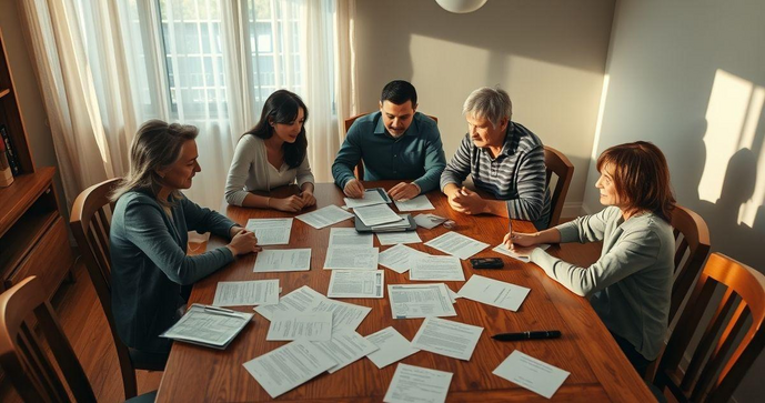
[[[662,150],[653,143],[636,141],[614,145],[597,158],[597,171],[613,167],[614,185],[630,210],[650,210],[665,221],[672,220],[670,169]]]

